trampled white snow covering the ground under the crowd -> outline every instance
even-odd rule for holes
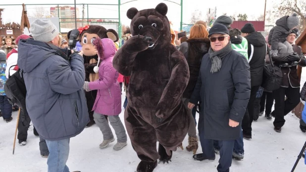
[[[303,85],[306,81],[306,69],[302,76]],[[124,95],[122,103],[123,101]],[[27,145],[20,146],[17,142],[15,155],[12,155],[16,116],[17,112],[13,113],[13,121],[10,123],[0,120],[0,172],[47,172],[47,159],[40,156],[39,137],[33,134],[33,126],[28,131]],[[120,117],[123,121],[123,111]],[[273,121],[267,120],[264,116],[253,122],[253,139],[244,140],[244,161],[233,160],[231,172],[290,172],[306,141],[306,134],[300,130],[299,119],[295,115],[290,113],[285,119],[286,123],[281,133],[275,132]],[[188,137],[183,142],[184,147],[187,146],[187,141]],[[116,142],[105,149],[100,149],[101,142],[102,133],[97,125],[85,128],[81,134],[71,138],[67,162],[70,171],[136,171],[140,160],[129,140],[128,145],[120,151],[112,149]],[[197,153],[201,152],[199,144]],[[171,163],[159,164],[154,172],[216,172],[218,155],[214,162],[194,161],[192,156],[192,152],[178,149],[173,153]],[[306,172],[303,158],[295,172]]]

